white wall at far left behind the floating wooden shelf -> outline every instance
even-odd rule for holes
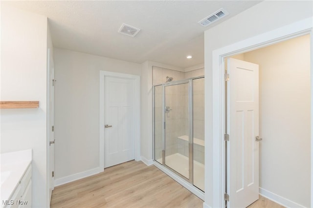
[[[1,101],[39,101],[1,109],[0,152],[32,148],[32,207],[48,207],[46,170],[47,18],[1,2]]]

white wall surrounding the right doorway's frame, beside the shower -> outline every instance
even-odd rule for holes
[[[212,51],[313,16],[312,1],[262,1],[204,33],[205,62],[205,203],[213,206]]]

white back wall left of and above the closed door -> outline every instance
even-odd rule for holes
[[[142,66],[60,48],[54,63],[58,180],[99,167],[99,71],[141,75]]]

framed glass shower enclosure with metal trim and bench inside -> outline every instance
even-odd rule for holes
[[[204,77],[153,87],[154,160],[204,192]]]

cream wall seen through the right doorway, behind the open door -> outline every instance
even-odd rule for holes
[[[310,207],[310,35],[244,54],[259,64],[260,187]]]

